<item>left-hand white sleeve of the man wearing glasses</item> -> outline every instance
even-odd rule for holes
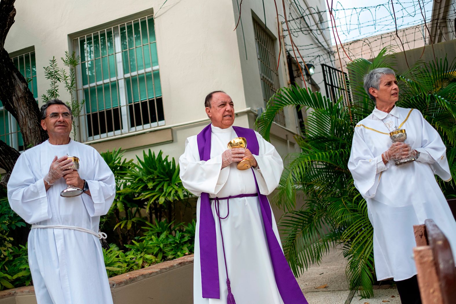
[[[7,185],[11,209],[29,224],[52,217],[44,186],[44,176],[38,178],[32,173],[36,171],[33,165],[39,164],[39,162],[31,161],[24,152],[16,161]]]

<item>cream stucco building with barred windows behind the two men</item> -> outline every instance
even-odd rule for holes
[[[318,44],[312,53],[301,52],[304,61],[318,55],[333,65],[325,2],[285,3],[284,14],[278,2],[278,30],[273,0],[264,0],[264,6],[261,0],[244,1],[233,31],[237,0],[22,0],[15,3],[5,48],[31,79],[40,105],[50,85],[43,67],[52,57],[63,67],[58,58],[66,51],[81,57],[73,93],[86,100],[77,118],[79,141],[100,152],[121,147],[129,159],[149,148],[178,158],[185,139],[209,123],[207,93],[224,90],[234,101],[235,124],[254,128],[269,97],[290,84],[290,69],[297,65],[287,58],[287,51],[293,53],[284,15],[295,21],[309,8],[319,12],[303,25],[311,34],[297,30],[293,39],[296,45]],[[318,89],[323,77],[314,65],[316,73],[306,79]],[[71,99],[62,85],[59,93],[62,100]],[[14,119],[1,106],[0,139],[24,149]],[[282,156],[295,150],[298,119],[296,109],[288,108],[273,125],[271,140]]]

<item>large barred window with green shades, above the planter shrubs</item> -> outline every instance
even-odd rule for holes
[[[73,39],[81,140],[165,124],[153,16]]]

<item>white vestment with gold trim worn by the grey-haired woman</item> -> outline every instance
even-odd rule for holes
[[[420,152],[404,165],[383,164],[382,153],[396,126],[405,129],[406,144]],[[375,108],[355,127],[348,168],[368,204],[373,226],[373,252],[378,280],[414,276],[413,225],[433,219],[448,238],[456,258],[456,222],[435,175],[451,180],[446,147],[437,131],[417,109],[394,107],[390,113]]]

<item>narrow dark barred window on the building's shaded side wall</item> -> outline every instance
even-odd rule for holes
[[[274,40],[263,26],[254,20],[255,45],[258,57],[261,89],[266,104],[274,93],[280,88],[279,74],[276,71],[277,59],[275,57]],[[285,126],[283,110],[275,115],[274,121]]]

